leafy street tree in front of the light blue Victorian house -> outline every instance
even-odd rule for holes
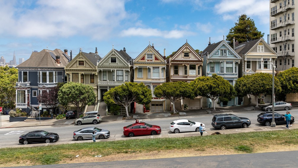
[[[213,102],[213,110],[215,111],[215,100],[218,97],[228,97],[234,94],[233,86],[223,77],[212,74],[212,77],[198,77],[190,82],[195,96],[204,96],[210,98]]]

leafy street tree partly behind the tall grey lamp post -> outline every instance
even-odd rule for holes
[[[272,74],[257,73],[252,75],[243,75],[238,78],[235,83],[235,91],[238,97],[244,97],[247,94],[252,94],[258,100],[262,94],[272,95]],[[281,91],[280,81],[277,77],[274,77],[274,92],[279,93]],[[258,108],[258,101],[256,108]]]

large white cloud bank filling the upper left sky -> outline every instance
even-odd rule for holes
[[[104,38],[126,19],[123,0],[36,1],[30,4],[0,1],[0,34],[18,37],[69,37],[87,35]]]

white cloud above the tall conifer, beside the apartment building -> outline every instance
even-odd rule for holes
[[[241,14],[254,19],[257,17],[260,24],[268,24],[268,0],[222,0],[215,5],[215,12],[222,15],[224,20],[238,20]],[[255,19],[254,19],[255,20]]]

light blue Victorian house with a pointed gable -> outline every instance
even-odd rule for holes
[[[202,52],[202,57],[202,76],[211,77],[212,74],[217,74],[228,80],[232,86],[235,85],[239,73],[238,66],[242,58],[225,40],[213,44],[209,42],[207,48]],[[239,104],[237,97],[230,99],[228,102],[228,106],[237,104]]]

